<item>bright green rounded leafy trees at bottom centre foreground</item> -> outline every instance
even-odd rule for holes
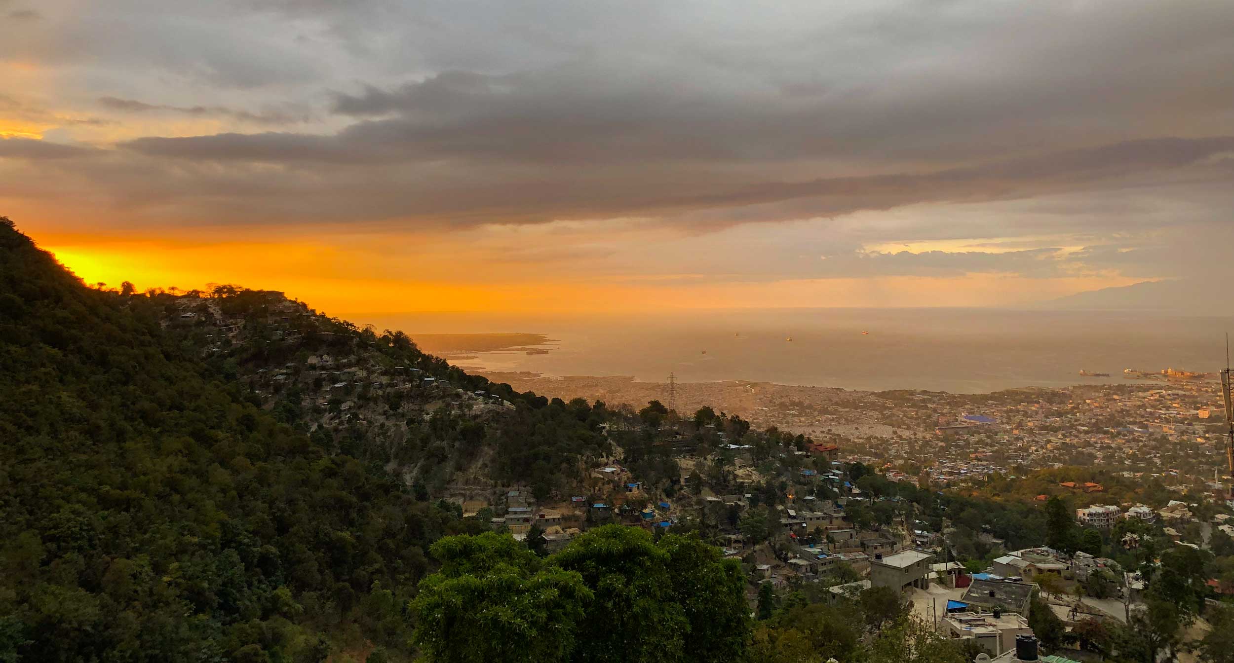
[[[750,632],[737,562],[695,537],[607,525],[539,561],[510,537],[447,537],[411,608],[437,663],[724,663]]]

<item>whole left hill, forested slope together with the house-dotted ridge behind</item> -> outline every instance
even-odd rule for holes
[[[243,322],[220,334],[186,307]],[[276,338],[274,313],[295,320],[299,341]],[[297,371],[302,381],[267,388],[264,366],[306,352],[347,356],[343,372],[389,375],[391,387],[349,389],[354,409]],[[586,404],[491,387],[406,336],[274,293],[88,288],[7,219],[0,375],[4,661],[406,651],[402,606],[431,569],[428,545],[480,526],[431,503],[424,483],[484,447],[496,476],[552,486],[602,440]]]

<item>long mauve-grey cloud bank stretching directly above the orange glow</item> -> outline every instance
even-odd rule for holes
[[[220,161],[242,164],[244,168],[231,171],[236,180],[252,182],[255,176],[268,181],[274,191],[295,197],[286,203],[291,208],[299,209],[305,200],[301,187],[310,196],[331,198],[316,208],[316,214],[329,219],[337,218],[329,209],[343,206],[365,218],[492,223],[656,216],[701,227],[840,216],[924,202],[1025,198],[1162,179],[1220,185],[1232,179],[1230,164],[1211,159],[1234,150],[1234,137],[1169,138],[938,171],[749,184],[745,180],[754,175],[745,171],[689,173],[663,165],[631,171],[621,164],[580,169],[566,161],[507,170],[500,163],[484,163],[443,145],[401,143],[396,134],[371,131],[374,124],[385,127],[364,123],[332,137],[141,138],[121,147],[147,158],[197,163],[202,171],[213,173],[211,164]],[[294,170],[271,173],[259,168],[263,164]],[[621,186],[615,186],[618,177]]]

